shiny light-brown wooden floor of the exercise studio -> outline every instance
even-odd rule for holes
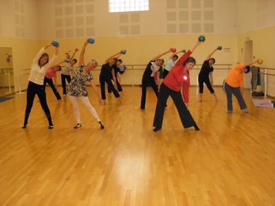
[[[215,88],[203,102],[190,89],[190,112],[200,131],[184,130],[168,101],[162,130],[153,132],[156,98],[148,89],[124,87],[123,105],[107,95],[107,105],[88,88],[105,125],[80,103],[76,130],[69,99],[47,102],[54,129],[36,98],[23,130],[25,94],[0,103],[0,205],[275,205],[275,108],[226,113],[225,94]],[[61,88],[59,88],[61,91]]]

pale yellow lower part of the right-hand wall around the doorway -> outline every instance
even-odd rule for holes
[[[275,27],[269,27],[262,30],[245,32],[238,35],[238,58],[243,62],[244,54],[241,52],[244,47],[244,42],[248,39],[253,41],[253,55],[256,58],[262,58],[263,64],[260,67],[274,68],[274,53],[275,53]],[[243,51],[244,52],[244,51]],[[268,73],[275,71],[267,70]],[[267,76],[267,94],[275,96],[275,76]]]

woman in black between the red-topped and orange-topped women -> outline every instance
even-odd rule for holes
[[[207,88],[209,89],[210,93],[213,95],[214,99],[217,101],[217,95],[214,93],[214,89],[212,88],[213,84],[213,67],[214,62],[216,61],[211,56],[216,52],[218,49],[214,49],[204,60],[203,65],[201,66],[201,71],[199,71],[199,98],[198,102],[202,101],[202,94],[203,94],[203,82],[206,83]]]

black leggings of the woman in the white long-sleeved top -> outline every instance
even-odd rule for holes
[[[38,95],[40,104],[47,116],[47,120],[49,124],[52,125],[52,117],[50,113],[50,109],[47,106],[46,93],[44,85],[35,84],[33,82],[29,82],[28,90],[27,90],[27,106],[25,108],[25,120],[24,125],[28,124],[28,118],[30,115],[30,111],[32,110],[32,105],[34,104],[34,97]]]

